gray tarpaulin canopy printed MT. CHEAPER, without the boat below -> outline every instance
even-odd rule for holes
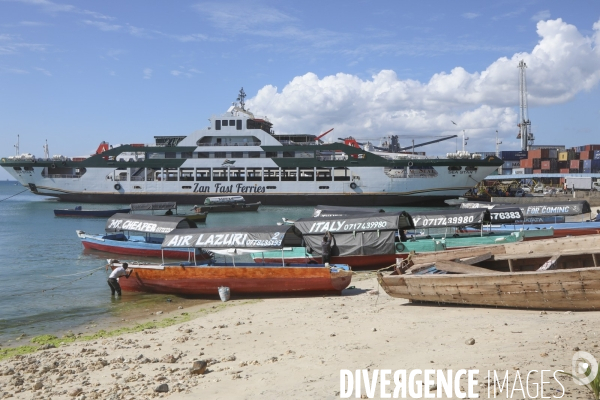
[[[196,223],[183,217],[114,214],[106,221],[106,232],[169,233],[177,228],[195,228]]]

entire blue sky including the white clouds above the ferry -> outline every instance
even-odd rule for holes
[[[189,134],[242,86],[277,133],[516,150],[520,59],[536,143],[600,143],[599,21],[592,0],[0,0],[0,154]]]

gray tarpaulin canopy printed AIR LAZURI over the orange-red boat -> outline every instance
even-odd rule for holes
[[[177,229],[163,240],[162,247],[228,250],[231,253],[272,251],[284,246],[300,246],[301,235],[293,225],[226,226]]]

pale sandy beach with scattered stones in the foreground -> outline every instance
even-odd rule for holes
[[[154,319],[193,319],[5,359],[0,398],[336,399],[342,369],[477,369],[476,393],[488,398],[488,370],[508,371],[511,387],[528,375],[534,388],[541,370],[571,372],[578,350],[600,356],[600,313],[410,304],[378,289],[373,273],[351,285],[342,296],[152,310]],[[206,361],[203,374],[190,371],[194,361]],[[560,378],[564,393],[551,373],[543,380],[550,398],[589,398],[569,377]],[[381,398],[379,386],[374,393]],[[497,396],[530,397],[541,393]]]

